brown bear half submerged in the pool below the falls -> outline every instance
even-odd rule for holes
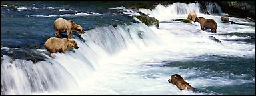
[[[168,82],[176,85],[179,88],[179,90],[183,90],[183,89],[186,89],[186,88],[187,89],[192,89],[192,90],[195,89],[191,85],[189,85],[189,83],[184,81],[184,79],[179,74],[171,75],[171,79],[169,79]]]

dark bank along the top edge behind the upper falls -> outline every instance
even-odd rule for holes
[[[133,4],[125,5],[126,8],[137,10],[139,8],[155,9],[158,4],[167,6],[172,3],[197,3],[197,1],[138,1]],[[198,1],[201,5],[201,13],[209,14],[205,3],[207,1]],[[234,15],[237,17],[250,17],[252,21],[255,20],[255,1],[215,1],[222,9],[223,13]],[[235,10],[235,11],[234,11]]]

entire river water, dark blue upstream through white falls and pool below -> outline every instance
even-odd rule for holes
[[[242,25],[223,23],[221,15],[227,14],[217,3],[206,3],[210,15],[201,13],[200,3],[140,8],[160,21],[158,28],[141,23],[132,17],[139,13],[121,4],[5,3],[1,94],[255,94],[255,23],[238,17],[229,21]],[[189,12],[214,19],[217,33],[202,31],[197,22],[175,21]],[[43,47],[55,37],[58,17],[85,30],[73,33],[79,49],[49,54]],[[169,83],[176,73],[196,90]]]

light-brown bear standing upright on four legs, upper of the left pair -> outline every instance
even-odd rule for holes
[[[85,33],[83,31],[83,28],[80,25],[77,25],[74,21],[72,20],[65,20],[61,17],[56,19],[54,21],[54,31],[55,35],[57,37],[60,37],[60,33],[65,33],[67,32],[67,38],[71,39],[72,36],[72,31],[77,31],[79,33]]]

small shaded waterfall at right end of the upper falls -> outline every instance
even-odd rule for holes
[[[219,14],[219,13],[223,13],[221,10],[221,7],[217,4],[217,3],[212,3],[212,2],[206,2],[206,9],[208,11],[208,13],[210,14]]]

